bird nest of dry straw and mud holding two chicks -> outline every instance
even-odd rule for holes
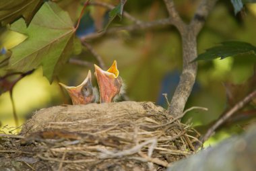
[[[164,170],[195,150],[179,118],[152,102],[44,108],[5,141],[5,158],[34,170]]]

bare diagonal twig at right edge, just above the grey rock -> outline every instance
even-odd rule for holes
[[[220,127],[220,125],[222,125],[224,122],[226,122],[226,120],[228,118],[230,118],[230,116],[232,116],[232,114],[234,114],[235,112],[237,112],[238,110],[243,108],[246,104],[251,102],[251,100],[253,100],[253,98],[255,98],[255,97],[256,97],[256,90],[251,92],[251,94],[246,96],[243,100],[241,100],[236,105],[234,105],[230,110],[228,110],[228,112],[226,112],[226,114],[224,114],[221,118],[219,118],[218,121],[216,121],[216,123],[214,125],[212,125],[212,127],[210,127],[210,129],[208,129],[208,131],[205,133],[205,135],[201,138],[201,141],[204,142],[207,139],[209,139],[209,137],[212,136],[214,131],[216,129],[218,129],[218,127]]]

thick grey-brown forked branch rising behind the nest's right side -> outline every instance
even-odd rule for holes
[[[166,2],[166,7],[171,15],[170,18],[179,21],[180,18],[177,17],[177,12],[172,11],[174,10],[173,2],[171,0],[164,1]],[[183,27],[179,29],[179,25],[176,25],[181,33],[183,44],[183,71],[181,73],[179,85],[177,86],[170,102],[170,106],[168,107],[171,116],[181,116],[185,104],[187,103],[187,99],[191,94],[197,75],[197,63],[191,63],[191,61],[197,57],[197,34],[203,27],[205,18],[207,18],[208,13],[214,7],[216,1],[217,0],[202,0],[191,23],[183,26],[184,30]],[[203,20],[201,20],[202,18]]]

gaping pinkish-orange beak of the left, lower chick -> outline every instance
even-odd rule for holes
[[[86,79],[77,87],[66,86],[59,83],[67,90],[73,104],[89,104],[95,101],[95,94],[92,87],[92,73],[89,70]]]

